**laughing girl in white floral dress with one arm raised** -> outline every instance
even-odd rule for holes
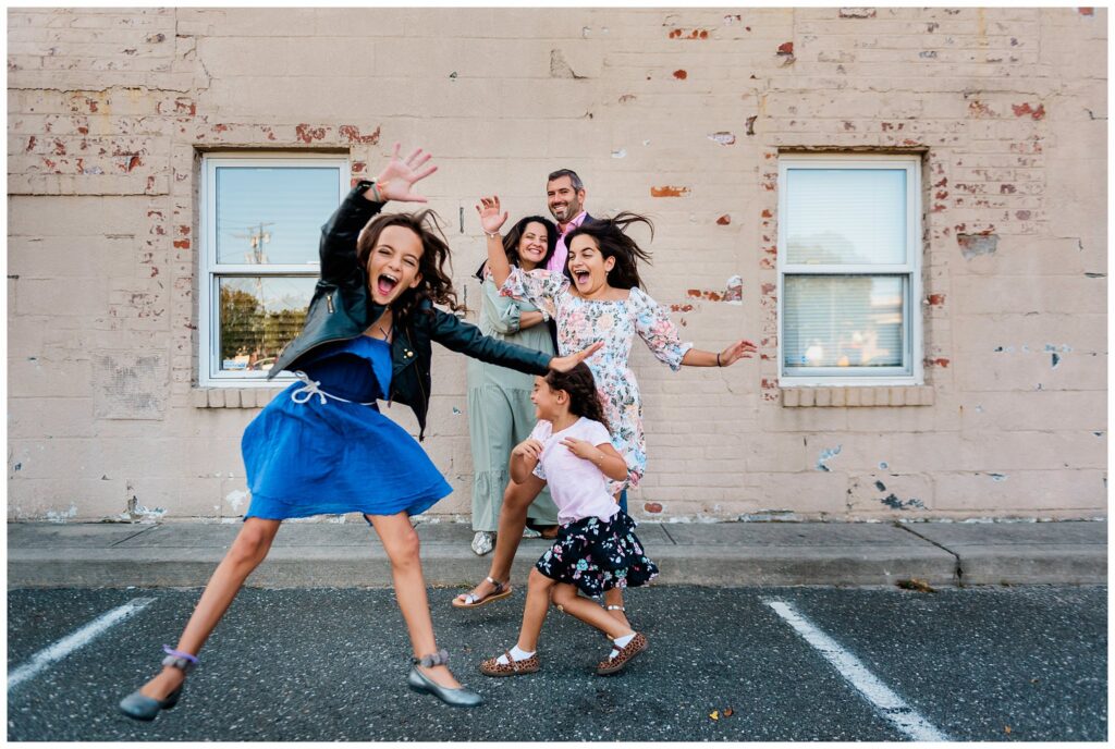
[[[501,212],[500,198],[485,197],[481,203],[476,211],[488,237],[488,269],[502,286],[501,293],[523,298],[554,319],[559,352],[603,343],[603,349],[584,363],[595,379],[611,425],[612,445],[628,467],[626,477],[609,483],[609,492],[615,495],[624,487],[637,487],[647,468],[647,442],[639,383],[628,363],[636,337],[675,371],[682,366],[730,367],[750,357],[755,344],[739,340],[723,351],[702,351],[681,342],[669,312],[642,290],[638,263],[648,261],[649,254],[626,233],[633,223],[646,224],[653,232],[646,217],[621,213],[585,222],[566,237],[569,276],[545,270],[527,273],[512,268],[503,252],[500,228],[507,214]],[[459,607],[467,607],[460,606],[462,601],[481,605],[510,592],[507,580],[525,523],[525,505],[521,504],[504,498],[489,574],[472,592],[458,596]],[[609,613],[627,624],[620,592],[610,591],[604,601]]]

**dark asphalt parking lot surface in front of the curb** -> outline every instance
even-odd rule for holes
[[[250,588],[180,706],[145,724],[118,714],[116,702],[158,668],[159,646],[173,644],[197,590],[9,591],[8,739],[896,741],[918,738],[914,729],[967,741],[1107,737],[1103,586],[650,587],[628,596],[650,649],[623,673],[593,675],[608,643],[552,611],[542,671],[498,680],[476,667],[514,643],[523,592],[471,612],[449,606],[456,592],[430,592],[434,622],[458,678],[487,700],[477,710],[407,690],[409,648],[390,591]],[[144,599],[69,654],[43,660],[45,649]],[[28,667],[37,670],[28,675]]]

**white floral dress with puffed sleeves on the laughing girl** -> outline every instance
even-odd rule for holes
[[[609,481],[608,488],[615,494],[622,488],[639,486],[647,470],[647,439],[642,430],[639,382],[628,366],[631,344],[638,335],[675,371],[681,368],[681,358],[694,344],[681,342],[666,308],[641,289],[632,289],[626,300],[594,301],[573,294],[569,279],[562,273],[524,272],[512,268],[500,293],[525,299],[554,319],[561,356],[580,351],[597,341],[604,342],[604,347],[584,363],[597,380],[612,446],[628,464],[627,480]]]

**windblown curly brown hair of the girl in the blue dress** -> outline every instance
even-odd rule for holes
[[[446,271],[446,264],[450,269],[453,266],[449,259],[449,243],[442,231],[442,223],[437,214],[429,208],[416,213],[381,213],[368,222],[368,225],[360,232],[356,245],[357,262],[360,263],[360,268],[365,269],[365,275],[367,275],[371,251],[379,242],[379,235],[388,226],[409,228],[421,240],[423,250],[421,257],[418,259],[421,282],[414,289],[404,291],[391,304],[397,318],[408,318],[424,299],[428,299],[434,304],[444,304],[454,312],[464,309],[457,303],[457,292],[453,288],[449,272]]]

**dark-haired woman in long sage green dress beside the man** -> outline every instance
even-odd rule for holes
[[[504,239],[512,265],[524,271],[545,268],[558,243],[558,230],[542,216],[526,216]],[[549,315],[527,301],[501,296],[487,266],[477,274],[483,283],[478,327],[485,335],[552,354]],[[472,548],[483,556],[492,551],[500,526],[505,490],[513,490],[507,474],[511,450],[534,427],[531,389],[534,378],[504,367],[468,361],[468,432],[473,447]],[[556,526],[558,507],[542,490],[527,509],[529,523]]]

